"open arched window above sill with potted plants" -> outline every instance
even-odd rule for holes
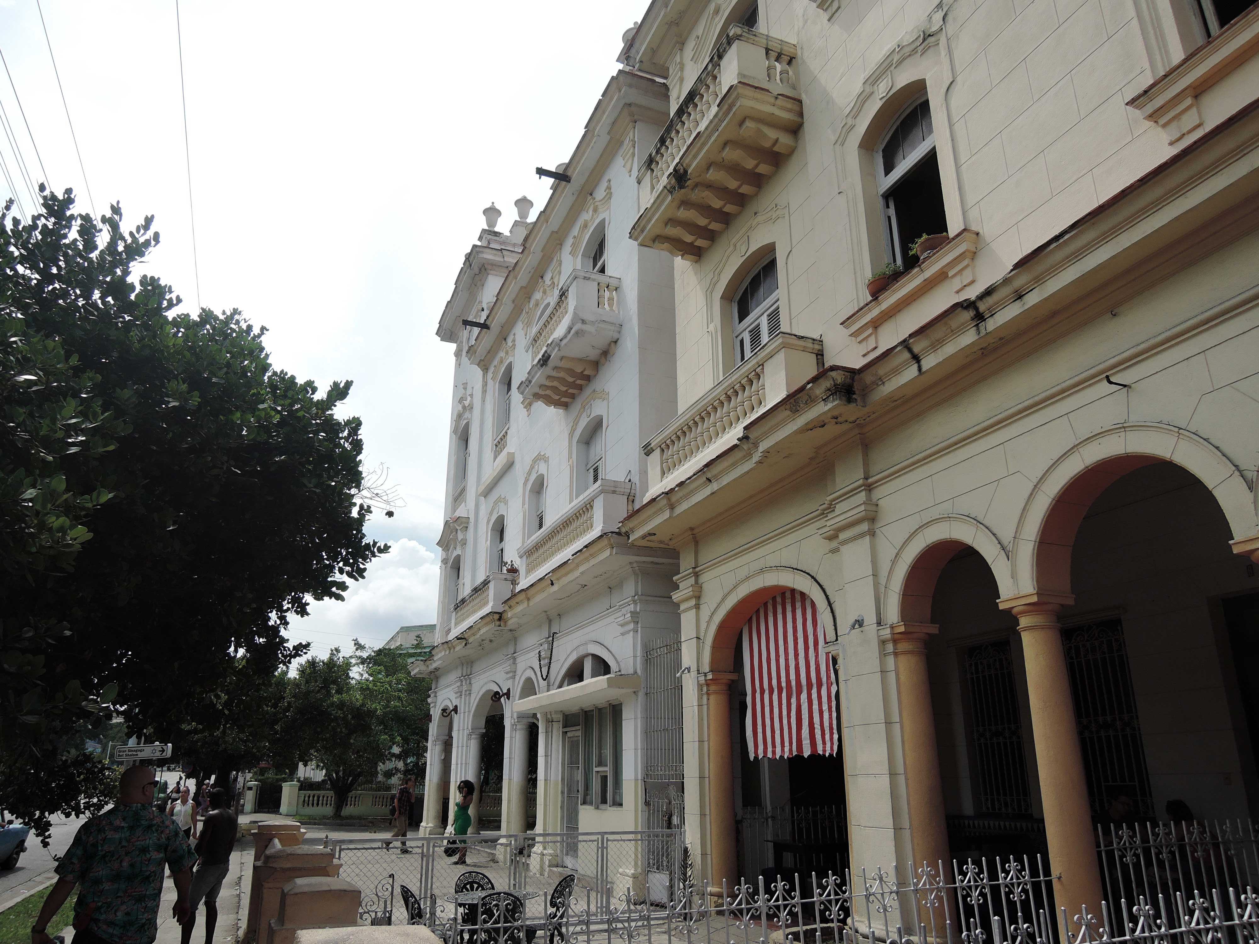
[[[948,232],[932,108],[925,97],[893,125],[875,155],[875,174],[888,259],[908,268],[910,259],[917,262],[909,247],[918,237]]]

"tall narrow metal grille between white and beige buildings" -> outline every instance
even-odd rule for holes
[[[643,799],[647,828],[675,831],[647,845],[647,897],[667,902],[679,881],[685,843],[682,795],[682,644],[666,642],[643,652]]]

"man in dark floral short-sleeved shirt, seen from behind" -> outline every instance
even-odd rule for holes
[[[165,866],[175,879],[175,916],[183,924],[195,861],[175,821],[154,809],[154,772],[127,768],[118,802],[79,827],[54,870],[60,879],[30,929],[31,944],[50,944],[48,923],[76,885],[82,887],[74,902],[74,944],[151,944]]]

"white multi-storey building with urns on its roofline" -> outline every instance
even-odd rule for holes
[[[677,555],[618,529],[645,487],[640,446],[677,409],[674,262],[628,238],[667,108],[665,83],[618,72],[536,219],[524,198],[501,230],[486,209],[441,317],[454,370],[437,646],[421,670],[429,832],[463,779],[483,784],[473,831],[500,785],[504,832],[645,823],[643,655],[677,661]],[[680,782],[677,668],[674,728],[655,743],[674,738]]]

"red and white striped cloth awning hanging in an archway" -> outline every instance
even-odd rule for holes
[[[743,627],[753,759],[838,749],[835,671],[823,642],[817,605],[799,590],[767,600]]]

